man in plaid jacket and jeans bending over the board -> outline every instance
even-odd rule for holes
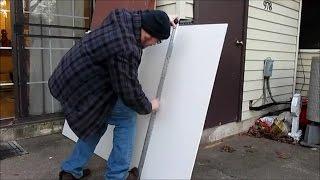
[[[108,124],[115,128],[105,178],[127,178],[136,112],[149,114],[159,108],[159,101],[150,102],[137,79],[142,49],[167,39],[170,24],[163,11],[114,10],[101,27],[64,55],[49,79],[49,88],[79,140],[62,163],[60,179],[90,174],[84,167]],[[136,172],[132,174],[137,176]]]

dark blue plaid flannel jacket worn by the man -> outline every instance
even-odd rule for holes
[[[114,10],[61,59],[49,79],[70,128],[86,138],[105,126],[118,98],[140,114],[151,112],[138,81],[141,11]]]

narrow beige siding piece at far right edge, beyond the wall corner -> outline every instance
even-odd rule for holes
[[[312,57],[320,57],[320,49],[300,49],[296,79],[296,92],[308,95]]]

